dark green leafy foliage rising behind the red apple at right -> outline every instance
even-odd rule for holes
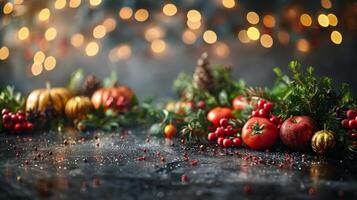
[[[356,106],[347,86],[336,91],[332,80],[317,78],[314,69],[303,70],[301,65],[292,61],[289,65],[292,79],[275,69],[278,80],[270,95],[277,104],[279,114],[285,119],[290,116],[307,115],[312,117],[319,129],[336,133],[339,142],[346,142],[346,131],[341,127],[340,114],[347,108]]]

